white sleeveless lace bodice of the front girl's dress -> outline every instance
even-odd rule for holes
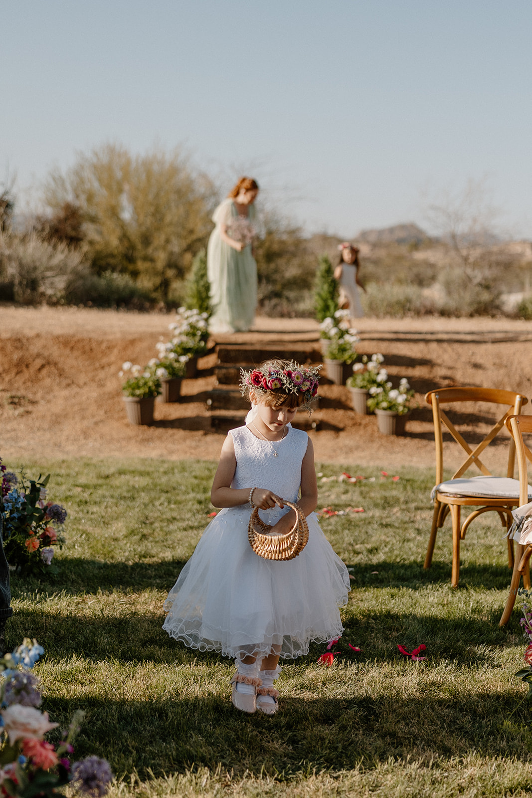
[[[274,441],[260,440],[246,426],[231,429],[236,471],[231,488],[268,488],[283,499],[296,501],[301,484],[301,462],[309,437],[301,429],[288,428],[286,437]]]

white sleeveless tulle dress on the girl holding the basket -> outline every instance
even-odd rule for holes
[[[257,485],[297,501],[306,433],[289,426],[275,444],[278,456],[246,426],[229,434],[237,460],[232,488]],[[275,507],[261,517],[273,524],[287,510]],[[279,646],[282,658],[294,659],[307,654],[310,642],[341,634],[338,607],[347,603],[349,574],[315,513],[307,518],[309,542],[301,554],[278,562],[251,549],[250,512],[250,504],[225,508],[211,521],[164,602],[163,628],[200,651],[260,658]]]

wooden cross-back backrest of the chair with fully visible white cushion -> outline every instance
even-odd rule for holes
[[[425,395],[425,401],[432,405],[432,417],[434,419],[434,440],[436,447],[436,483],[443,482],[443,426],[447,427],[448,431],[455,441],[463,448],[467,457],[460,465],[458,470],[453,474],[453,480],[462,476],[471,465],[479,468],[485,476],[493,476],[491,471],[480,460],[479,455],[484,449],[491,444],[491,441],[499,434],[504,426],[506,418],[510,415],[518,416],[521,413],[521,408],[526,405],[528,401],[522,393],[514,393],[514,391],[502,391],[495,388],[439,388],[434,391],[429,391]],[[471,448],[455,425],[447,417],[441,408],[442,404],[447,402],[488,402],[492,405],[506,405],[506,410],[499,418],[499,421],[490,429],[487,435],[480,441],[475,448]],[[508,466],[506,476],[514,476],[515,465],[515,444],[514,438],[510,437],[510,445],[508,451]]]

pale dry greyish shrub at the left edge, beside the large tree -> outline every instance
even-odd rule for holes
[[[60,301],[82,261],[81,251],[43,241],[35,231],[5,235],[0,251],[2,294],[25,305]]]

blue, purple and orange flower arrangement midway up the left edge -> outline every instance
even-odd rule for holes
[[[67,512],[61,504],[45,501],[50,475],[27,480],[22,472],[19,480],[13,472],[6,471],[2,460],[0,472],[0,516],[7,561],[26,573],[57,573],[57,567],[51,564],[53,546],[62,548],[65,543],[60,529]]]

